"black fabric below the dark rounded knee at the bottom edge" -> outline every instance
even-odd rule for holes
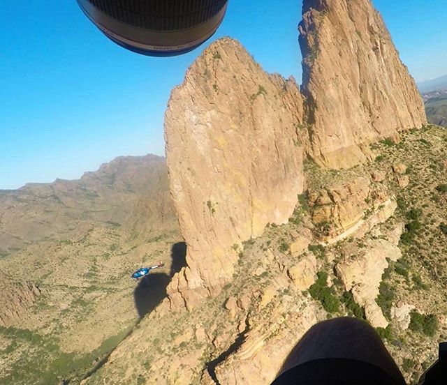
[[[287,370],[272,385],[405,385],[372,363],[323,358]]]

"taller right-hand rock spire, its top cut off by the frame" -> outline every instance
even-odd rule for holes
[[[305,0],[300,23],[302,92],[310,152],[346,168],[381,137],[426,123],[423,100],[369,0]]]

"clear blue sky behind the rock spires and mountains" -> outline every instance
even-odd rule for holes
[[[0,1],[0,188],[76,179],[121,155],[163,155],[170,90],[203,50],[170,59],[110,43],[75,0]],[[281,6],[279,6],[281,3]],[[416,80],[447,73],[446,0],[374,0]],[[299,0],[230,0],[217,36],[300,82]]]

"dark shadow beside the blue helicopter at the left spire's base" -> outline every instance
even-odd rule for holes
[[[135,299],[135,308],[140,318],[152,312],[166,297],[166,287],[173,278],[173,275],[186,266],[186,243],[179,242],[173,245],[171,249],[171,268],[170,273],[152,273],[147,278],[140,280],[135,287],[133,298]]]

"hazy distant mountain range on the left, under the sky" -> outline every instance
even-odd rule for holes
[[[68,239],[91,225],[145,234],[175,227],[166,160],[119,157],[75,181],[0,190],[0,257],[38,241]]]

